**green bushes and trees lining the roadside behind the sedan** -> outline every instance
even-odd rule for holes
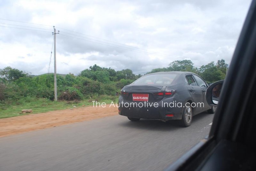
[[[159,71],[192,71],[198,73],[207,82],[225,79],[228,64],[225,60],[211,62],[200,68],[194,67],[190,60],[174,61],[166,68],[156,68]],[[57,90],[60,100],[81,100],[84,98],[116,98],[124,86],[131,84],[142,75],[133,74],[130,69],[115,71],[96,64],[81,71],[79,76],[74,74],[57,74]],[[43,74],[29,76],[27,72],[15,68],[0,69],[0,105],[3,110],[6,105],[33,103],[36,99],[54,100],[54,76]],[[29,102],[30,101],[30,102]]]

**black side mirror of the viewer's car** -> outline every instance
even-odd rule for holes
[[[217,106],[219,102],[220,97],[220,91],[224,80],[217,81],[212,83],[207,89],[206,89],[206,101],[211,106]]]

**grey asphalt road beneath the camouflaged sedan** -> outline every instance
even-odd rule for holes
[[[213,116],[182,128],[118,115],[2,137],[0,170],[163,170],[208,135]]]

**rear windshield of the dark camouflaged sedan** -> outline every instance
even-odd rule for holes
[[[153,74],[140,77],[132,84],[172,84],[177,74]]]

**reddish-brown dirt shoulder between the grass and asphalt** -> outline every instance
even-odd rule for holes
[[[0,137],[118,114],[117,107],[82,107],[0,119]]]

